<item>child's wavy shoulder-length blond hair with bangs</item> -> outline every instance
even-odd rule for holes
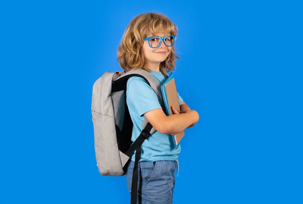
[[[130,21],[118,48],[118,61],[124,71],[143,69],[148,72],[142,50],[143,38],[158,32],[170,33],[176,39],[178,28],[169,18],[159,13],[140,14]],[[174,69],[176,58],[179,59],[172,46],[168,57],[160,63],[163,75],[167,76]]]

